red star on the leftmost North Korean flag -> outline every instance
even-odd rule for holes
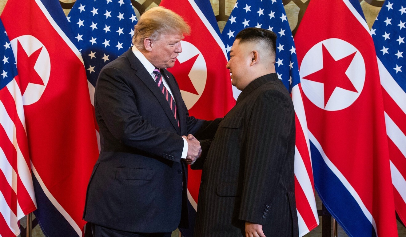
[[[28,56],[20,41],[17,40],[17,68],[21,94],[26,91],[28,83],[44,85],[41,77],[34,69],[41,50],[42,47]]]

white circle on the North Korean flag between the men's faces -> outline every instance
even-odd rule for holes
[[[184,63],[189,59],[191,59],[192,57],[199,54],[199,56],[197,57],[196,61],[192,66],[192,69],[189,72],[189,78],[192,81],[192,84],[196,89],[198,95],[190,93],[188,91],[180,90],[182,98],[185,101],[186,107],[190,109],[199,100],[206,86],[207,66],[203,54],[200,52],[198,48],[196,48],[196,46],[184,40],[181,41],[181,46],[182,52],[177,57],[179,63]]]

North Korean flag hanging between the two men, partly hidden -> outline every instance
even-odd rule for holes
[[[162,0],[160,6],[181,15],[192,29],[190,36],[181,42],[183,51],[175,66],[168,68],[179,84],[189,114],[205,120],[223,117],[235,105],[235,99],[226,68],[225,46],[210,2]],[[197,210],[200,179],[201,170],[189,168],[188,198],[194,210]],[[184,236],[192,236],[195,215],[195,212],[189,215],[190,229],[181,230]]]

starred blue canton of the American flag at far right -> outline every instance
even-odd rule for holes
[[[376,55],[406,92],[406,0],[386,0],[371,28]]]

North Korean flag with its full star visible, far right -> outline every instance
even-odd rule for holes
[[[315,189],[350,236],[397,236],[382,90],[357,0],[312,0],[295,36]]]

